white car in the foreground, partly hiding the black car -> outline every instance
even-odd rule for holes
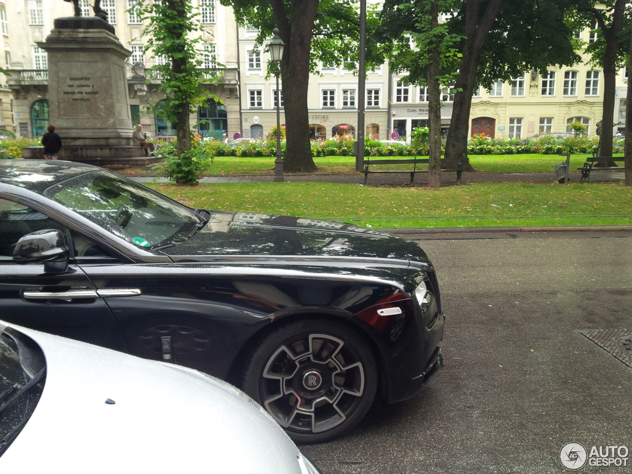
[[[0,322],[0,470],[318,474],[258,404],[190,368]],[[265,440],[265,442],[262,442]]]

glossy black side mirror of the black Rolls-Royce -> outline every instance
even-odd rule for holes
[[[63,273],[68,269],[70,250],[64,236],[56,229],[26,234],[13,249],[13,260],[18,264],[44,263],[45,273]]]

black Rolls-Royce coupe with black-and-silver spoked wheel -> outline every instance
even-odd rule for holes
[[[233,382],[295,441],[443,365],[435,269],[343,222],[193,209],[99,167],[0,161],[0,314]]]

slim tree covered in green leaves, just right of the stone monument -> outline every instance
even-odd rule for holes
[[[201,27],[188,0],[142,1],[135,11],[147,20],[143,34],[151,38],[145,52],[151,51],[162,64],[151,68],[150,75],[160,79],[159,90],[165,94],[164,116],[176,123],[177,155],[170,162],[171,176],[177,183],[193,185],[200,174],[200,162],[191,149],[189,116],[209,98],[219,100],[207,89],[217,84],[219,76],[207,76],[201,69],[203,52],[197,49]]]

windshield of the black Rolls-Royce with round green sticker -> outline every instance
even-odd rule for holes
[[[108,171],[68,179],[45,195],[141,247],[186,240],[202,221],[188,207]]]

